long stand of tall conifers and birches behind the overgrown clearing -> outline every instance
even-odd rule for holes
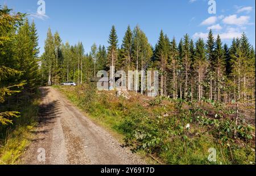
[[[138,74],[139,70],[159,70],[159,95],[164,97],[199,101],[207,98],[223,103],[251,102],[255,98],[255,51],[245,33],[234,39],[229,48],[219,35],[214,39],[212,31],[206,43],[203,39],[194,42],[186,34],[178,45],[175,38],[170,40],[161,31],[158,43],[152,47],[139,26],[133,31],[128,26],[118,48],[113,26],[108,51],[93,44],[89,55],[84,53],[81,43],[74,47],[62,44],[59,48],[61,39],[57,36],[58,40],[48,31],[42,56],[43,84],[48,80],[48,85],[52,85],[53,77],[55,85],[71,79],[79,84],[82,80],[88,83],[99,70],[108,71],[115,66],[109,72],[110,77],[117,70],[136,70]],[[135,91],[147,94],[141,76],[138,82]]]

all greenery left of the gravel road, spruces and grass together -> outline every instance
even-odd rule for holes
[[[36,124],[38,53],[35,23],[0,7],[0,164],[17,162]]]

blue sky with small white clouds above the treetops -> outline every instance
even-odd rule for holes
[[[63,42],[82,41],[85,52],[93,43],[108,45],[112,25],[117,29],[119,44],[128,24],[137,24],[154,46],[160,30],[179,41],[185,33],[193,39],[207,37],[209,29],[220,33],[223,43],[245,32],[255,47],[255,1],[216,0],[216,14],[208,13],[208,0],[44,0],[46,15],[37,14],[38,0],[0,0],[16,12],[31,14],[39,35],[40,54],[48,27],[58,31]]]

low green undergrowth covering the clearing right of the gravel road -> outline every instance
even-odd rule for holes
[[[114,91],[97,93],[93,85],[57,88],[97,123],[125,136],[125,146],[162,163],[255,164],[254,124],[242,120],[236,127],[235,104],[207,99],[188,103],[135,93],[130,100],[118,99]],[[216,149],[216,162],[208,161],[209,148]]]

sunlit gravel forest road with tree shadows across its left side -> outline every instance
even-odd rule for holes
[[[39,125],[22,164],[145,164],[141,157],[122,148],[110,133],[84,116],[59,91],[52,87],[40,87],[40,91]],[[42,149],[45,160],[42,160]]]

